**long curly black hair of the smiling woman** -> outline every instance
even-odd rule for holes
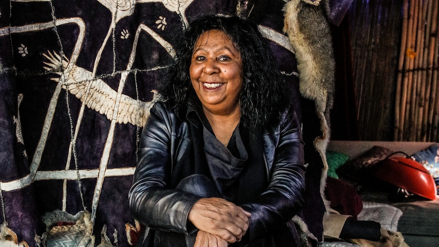
[[[239,95],[240,122],[251,129],[278,124],[291,102],[289,89],[258,26],[237,16],[206,15],[191,21],[183,37],[175,41],[176,56],[158,93],[177,113],[187,105],[189,95],[194,93],[189,77],[194,46],[199,36],[210,30],[224,32],[240,52],[243,81]]]

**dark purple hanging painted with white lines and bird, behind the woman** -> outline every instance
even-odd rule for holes
[[[259,23],[301,118],[296,61],[282,32],[284,4],[0,2],[0,224],[18,241],[44,246],[46,213],[87,211],[94,245],[130,246],[126,226],[135,222],[127,195],[141,129],[173,59],[172,41],[198,15],[240,14]]]

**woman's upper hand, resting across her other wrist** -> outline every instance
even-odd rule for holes
[[[233,243],[241,240],[249,229],[250,216],[241,207],[213,197],[198,200],[190,209],[188,219],[200,231]]]

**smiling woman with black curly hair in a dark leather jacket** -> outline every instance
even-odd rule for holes
[[[246,20],[214,15],[180,40],[129,193],[147,226],[138,245],[294,246],[287,222],[304,200],[303,142],[265,39]]]

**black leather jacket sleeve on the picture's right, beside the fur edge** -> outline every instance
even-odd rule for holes
[[[252,214],[248,236],[243,238],[250,242],[285,224],[304,203],[304,143],[293,107],[274,134],[264,135],[264,142],[266,163],[271,164],[268,187],[253,202],[240,205]]]

